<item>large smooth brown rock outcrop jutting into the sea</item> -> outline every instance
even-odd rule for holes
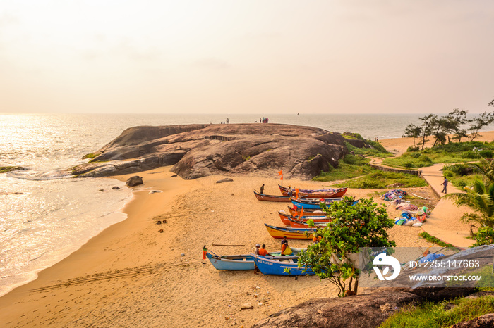
[[[90,163],[72,169],[80,177],[121,175],[174,165],[184,179],[254,172],[311,179],[347,152],[341,134],[278,124],[131,127],[102,147]]]

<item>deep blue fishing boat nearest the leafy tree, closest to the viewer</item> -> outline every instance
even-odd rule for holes
[[[253,256],[255,265],[257,265],[260,272],[264,275],[282,275],[282,276],[300,276],[300,275],[314,275],[314,272],[310,267],[306,272],[302,272],[304,267],[299,267],[299,256],[276,256],[273,258]],[[286,269],[288,272],[285,272]]]

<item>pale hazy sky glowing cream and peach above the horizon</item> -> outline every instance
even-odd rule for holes
[[[481,113],[493,39],[488,0],[0,0],[0,113]]]

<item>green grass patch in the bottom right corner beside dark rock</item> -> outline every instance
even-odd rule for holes
[[[401,311],[387,318],[380,327],[451,327],[453,324],[493,312],[494,296],[459,298],[440,303],[427,302],[418,306],[404,306]]]

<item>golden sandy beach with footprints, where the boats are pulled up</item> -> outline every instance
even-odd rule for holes
[[[494,138],[494,132],[481,134],[480,141]],[[413,145],[409,138],[381,142],[397,152]],[[233,182],[217,184],[224,176],[183,180],[171,177],[169,167],[138,175],[145,183],[134,187],[134,198],[123,209],[128,218],[1,297],[1,327],[250,327],[282,308],[337,295],[332,284],[318,277],[220,272],[202,259],[203,245],[223,255],[251,252],[256,243],[279,250],[279,240],[272,239],[264,223],[282,225],[277,211],[286,210],[287,203],[261,202],[253,195],[263,183],[265,194],[279,194],[277,177],[232,177]],[[349,189],[348,194],[373,196],[388,205],[376,191]],[[438,201],[430,187],[410,191]],[[399,214],[388,208],[391,218]],[[166,223],[157,225],[158,220]],[[430,246],[418,232],[395,226],[390,235],[397,246]],[[305,247],[308,241],[290,245]],[[240,310],[244,303],[253,309]]]

